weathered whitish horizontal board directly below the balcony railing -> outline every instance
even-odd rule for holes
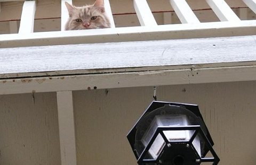
[[[214,63],[236,63],[237,66],[239,62],[256,61],[255,40],[256,36],[244,36],[5,48],[0,49],[0,77],[27,77],[36,75],[35,72],[40,72],[38,76],[59,74],[54,71],[65,75],[73,71],[101,73],[100,70],[109,69],[117,72],[120,68],[141,71],[139,67],[156,70],[154,67],[159,66]]]

